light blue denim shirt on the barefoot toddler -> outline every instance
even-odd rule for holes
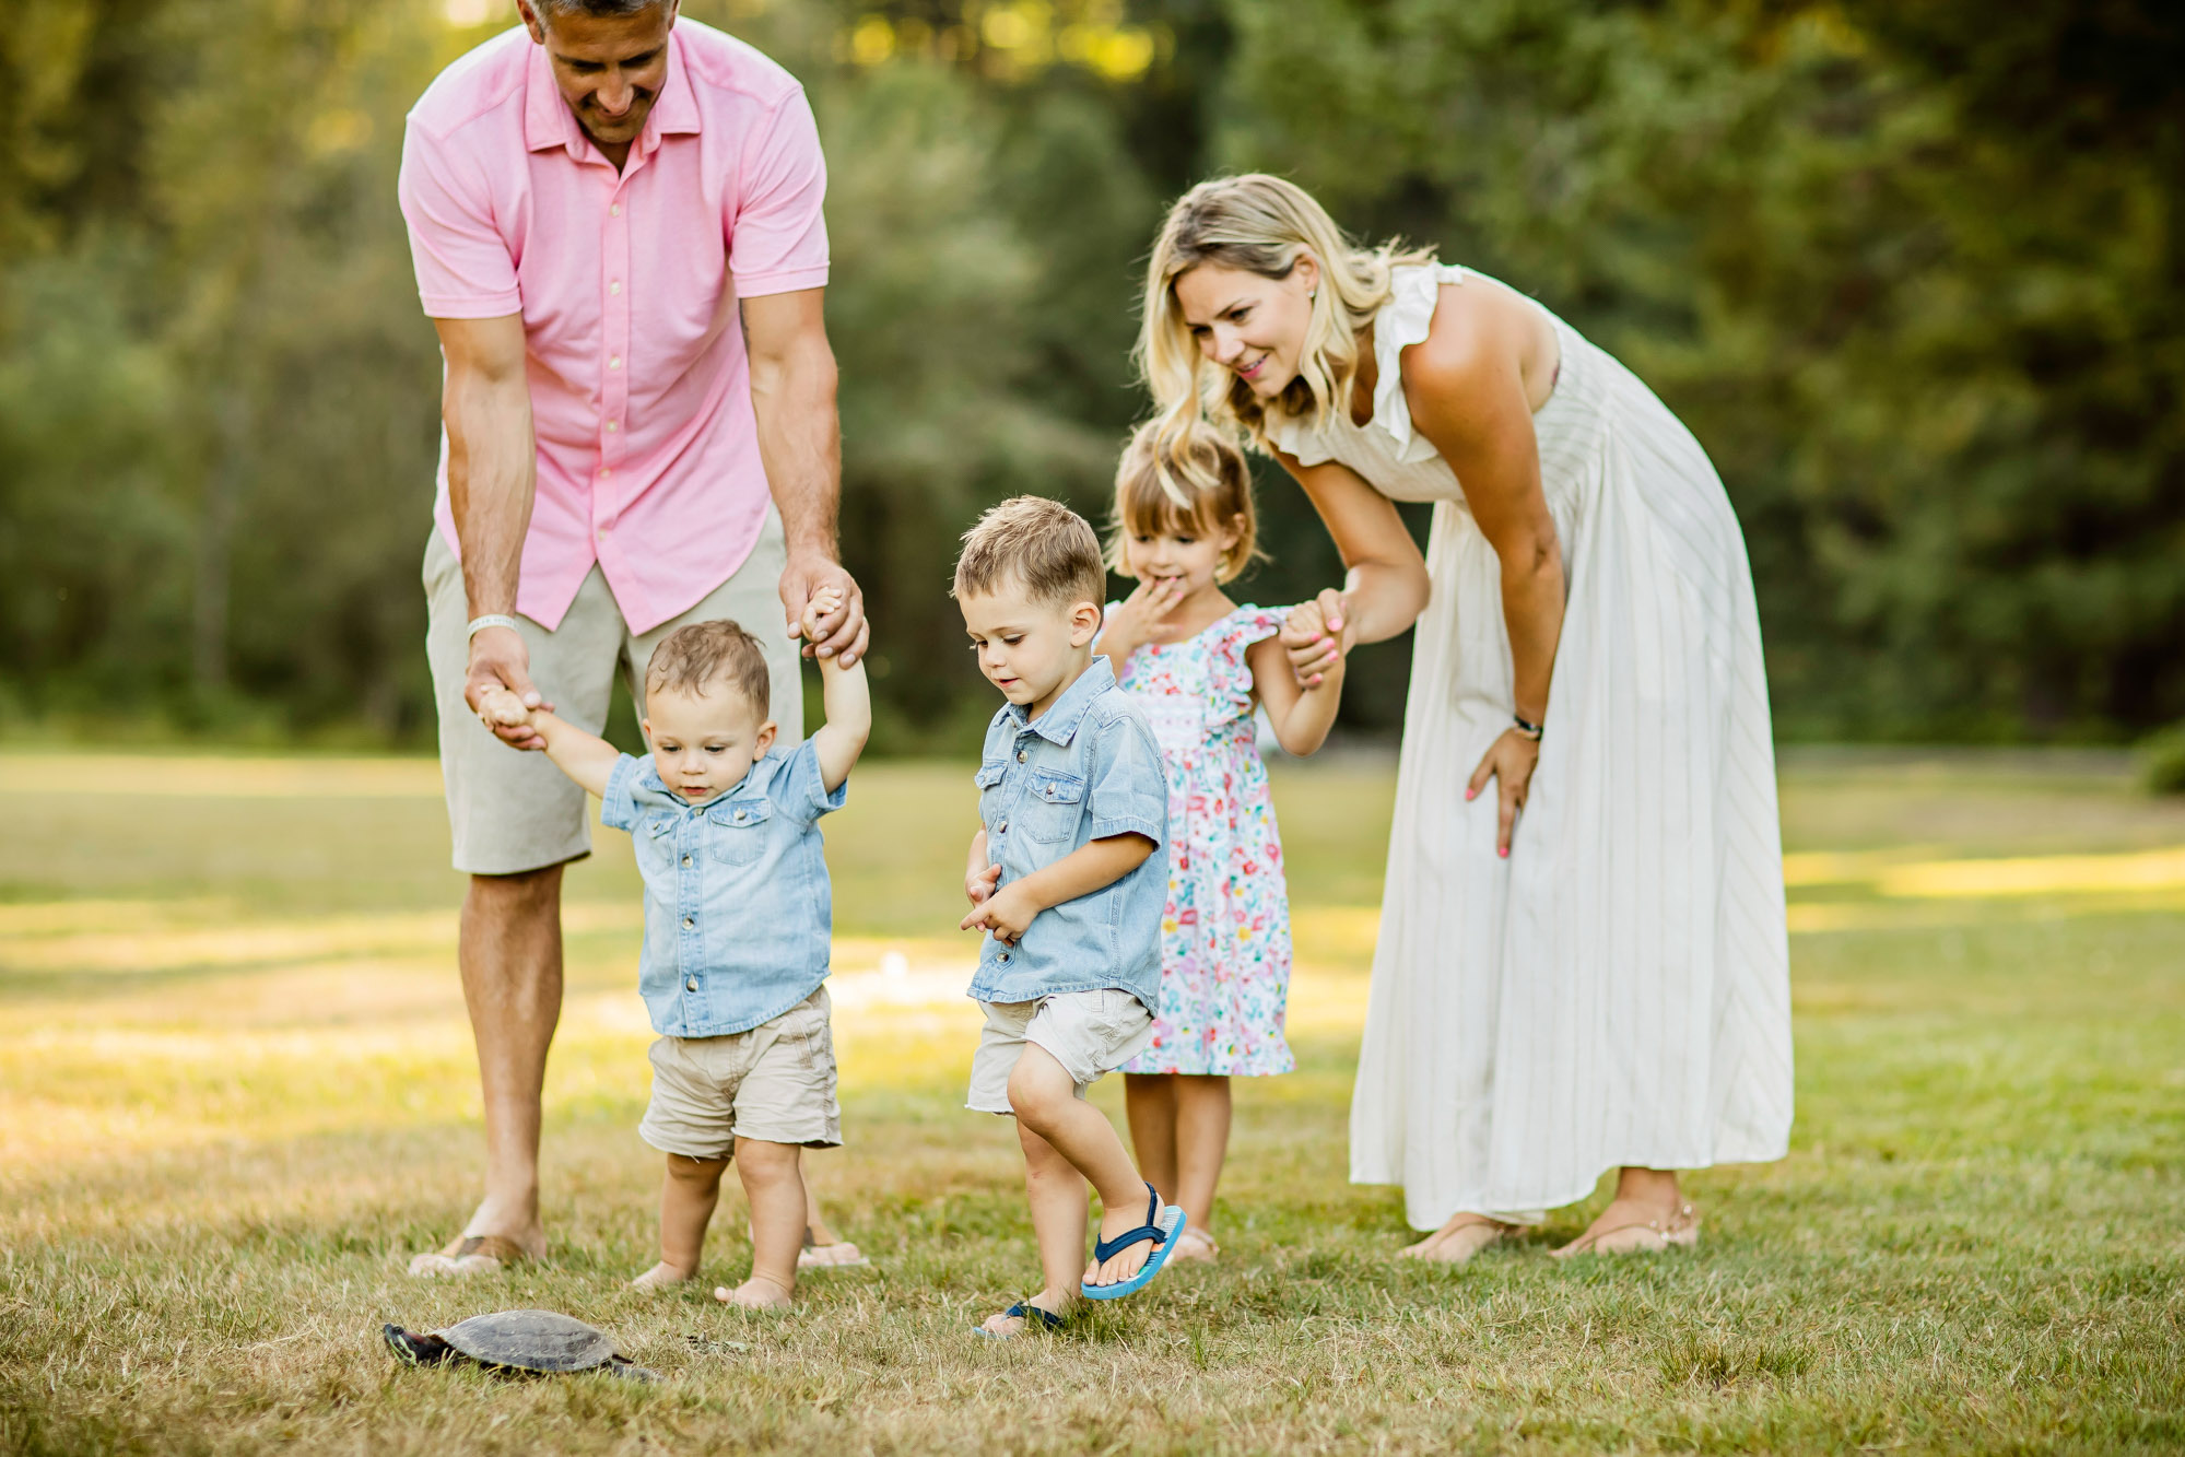
[[[638,992],[653,1031],[749,1031],[826,981],[835,898],[819,817],[839,810],[848,789],[826,793],[808,738],[789,754],[769,749],[699,806],[660,780],[651,754],[614,765],[599,821],[629,830],[645,874]]]

